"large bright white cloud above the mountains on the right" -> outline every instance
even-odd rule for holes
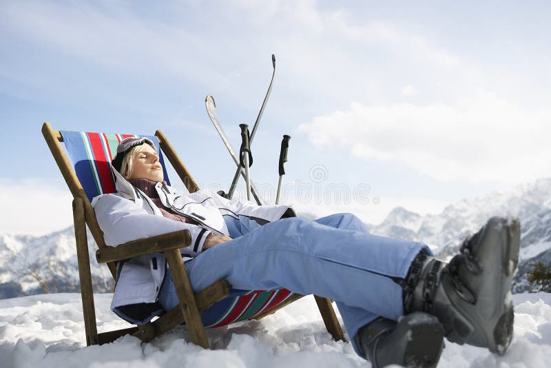
[[[318,116],[300,130],[318,147],[340,144],[442,181],[519,183],[551,171],[551,110],[481,92],[455,104],[364,105]]]

